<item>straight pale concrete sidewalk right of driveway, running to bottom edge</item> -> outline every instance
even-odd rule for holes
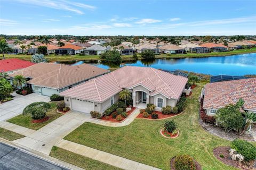
[[[158,170],[153,166],[141,164],[135,162],[130,159],[126,159],[123,157],[119,157],[113,154],[109,154],[107,152],[103,152],[101,150],[93,149],[90,147],[86,147],[84,145],[80,145],[78,143],[70,142],[67,140],[60,140],[55,146],[69,150],[76,154],[89,157],[95,160],[99,160],[100,162],[116,166],[118,168],[127,169],[127,170]]]

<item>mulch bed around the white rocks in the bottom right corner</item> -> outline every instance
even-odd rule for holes
[[[234,166],[236,168],[239,169],[243,169],[243,170],[252,170],[252,169],[256,169],[255,167],[253,167],[253,161],[249,163],[250,166],[247,166],[243,163],[238,162],[237,160],[232,160],[231,156],[229,155],[229,150],[230,147],[217,147],[213,149],[213,155],[220,160],[222,163],[229,165],[229,166]],[[220,155],[223,155],[224,157],[221,158]]]

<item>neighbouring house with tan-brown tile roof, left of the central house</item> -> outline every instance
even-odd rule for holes
[[[23,75],[29,80],[27,81],[27,86],[30,86],[33,92],[51,96],[108,72],[108,70],[100,69],[90,64],[69,66],[65,64],[38,63],[12,73],[10,77]]]

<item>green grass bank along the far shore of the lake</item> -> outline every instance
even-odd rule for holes
[[[187,54],[173,54],[173,55],[156,55],[157,59],[161,58],[187,58],[187,57],[210,57],[210,56],[228,56],[228,55],[236,55],[236,54],[246,54],[246,53],[256,53],[256,48],[252,49],[239,49],[231,52],[220,52],[220,53],[204,53],[204,54],[196,54],[196,53],[187,53]],[[138,54],[139,59],[141,59]],[[15,54],[5,54],[5,58],[20,58],[21,60],[31,60],[31,55],[15,55]],[[84,60],[84,61],[98,61],[100,57],[98,55],[89,55],[89,56],[80,56],[80,55],[53,55],[50,54],[46,56],[46,58],[51,61],[73,61],[73,60]],[[2,56],[0,57],[2,59]],[[132,61],[132,55],[124,55],[122,56],[123,61]]]

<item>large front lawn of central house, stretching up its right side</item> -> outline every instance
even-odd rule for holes
[[[182,114],[170,118],[178,123],[178,138],[162,137],[164,120],[135,119],[120,128],[84,123],[65,139],[161,169],[170,169],[170,159],[178,154],[189,154],[203,169],[236,169],[213,155],[213,148],[229,146],[230,142],[206,132],[198,123],[202,87],[199,84],[194,89]]]

